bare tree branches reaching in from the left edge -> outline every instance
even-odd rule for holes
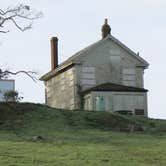
[[[8,23],[12,23],[18,30],[24,32],[32,28],[33,21],[42,17],[42,13],[30,6],[20,4],[16,7],[8,7],[7,9],[0,9],[0,33],[8,33]],[[13,72],[10,70],[3,70],[0,68],[0,79],[6,79],[9,75],[26,74],[33,81],[37,81],[37,72],[20,70]]]

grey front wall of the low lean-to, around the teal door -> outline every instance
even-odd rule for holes
[[[106,111],[144,109],[147,116],[147,93],[146,92],[91,92],[92,110],[95,108],[95,98],[104,96]]]

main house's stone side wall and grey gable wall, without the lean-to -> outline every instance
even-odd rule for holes
[[[75,62],[77,65],[45,82],[48,105],[80,109],[80,92],[107,82],[143,87],[142,62],[110,39],[87,49]]]

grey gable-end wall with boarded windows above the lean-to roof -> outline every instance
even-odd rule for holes
[[[106,82],[143,88],[142,62],[110,39],[87,51],[77,61],[81,62],[77,66],[77,82],[82,90]],[[86,68],[89,68],[89,73],[85,73]],[[89,80],[83,80],[85,75]]]

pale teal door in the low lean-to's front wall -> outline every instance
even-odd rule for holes
[[[103,96],[95,97],[95,110],[105,111],[105,99]]]

